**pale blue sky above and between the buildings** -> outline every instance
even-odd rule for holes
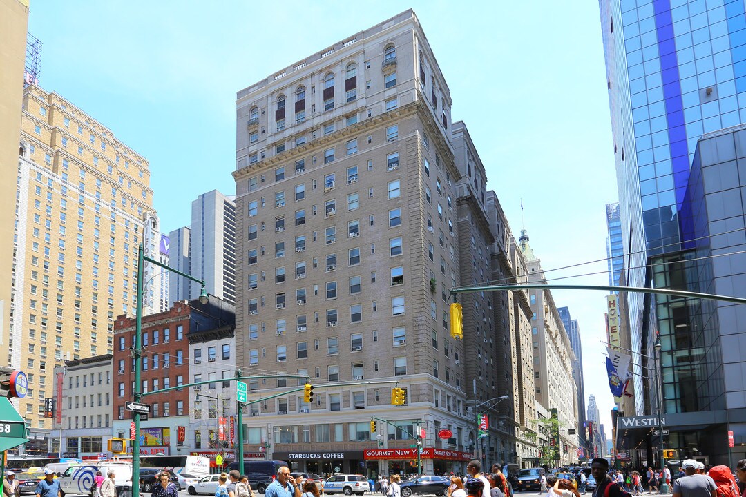
[[[413,7],[516,238],[545,269],[606,257],[616,201],[595,1],[31,0],[40,85],[101,121],[150,162],[164,231],[191,200],[234,191],[236,92]],[[521,213],[521,199],[524,210]],[[548,276],[606,271],[606,262]],[[605,273],[563,282],[606,285]],[[586,395],[609,425],[604,292],[557,291],[579,320]],[[572,402],[572,399],[568,399]],[[610,429],[606,429],[610,436]]]

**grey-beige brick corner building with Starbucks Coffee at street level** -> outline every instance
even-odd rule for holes
[[[415,472],[406,432],[421,420],[424,471],[463,469],[471,385],[444,294],[460,282],[459,172],[448,86],[415,14],[243,89],[236,110],[239,364],[316,385],[313,405],[302,391],[253,405],[248,452],[269,441],[294,469]],[[394,382],[407,405],[391,404]],[[303,383],[257,381],[250,397]],[[371,434],[371,417],[394,425]]]

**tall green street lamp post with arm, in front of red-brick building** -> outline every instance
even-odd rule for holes
[[[207,291],[204,288],[204,279],[197,279],[186,273],[182,273],[174,268],[158,262],[155,259],[145,256],[145,249],[142,246],[142,242],[137,247],[137,311],[135,314],[135,345],[132,351],[132,356],[135,360],[135,385],[134,385],[134,401],[140,402],[142,400],[142,384],[140,384],[140,372],[142,370],[142,364],[140,364],[140,357],[142,356],[142,297],[143,297],[143,270],[145,261],[151,264],[157,265],[159,268],[172,271],[177,273],[179,276],[184,276],[187,279],[191,279],[193,282],[198,282],[202,285],[201,291],[199,292],[199,301],[202,304],[206,304],[209,300],[207,297]],[[132,440],[132,497],[140,496],[140,413],[133,411],[132,418],[135,423],[135,437]]]

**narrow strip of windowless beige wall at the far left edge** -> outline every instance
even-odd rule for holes
[[[1,212],[16,208],[18,137],[21,131],[23,66],[26,54],[28,0],[0,0],[0,186]],[[0,239],[13,239],[13,216],[0,219]],[[10,332],[10,288],[13,244],[0,244],[0,347],[7,347]]]

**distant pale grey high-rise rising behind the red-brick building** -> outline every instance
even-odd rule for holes
[[[204,279],[207,293],[236,301],[236,204],[217,190],[192,201],[192,223],[170,233],[171,268]],[[171,273],[169,300],[195,299],[201,285]]]

